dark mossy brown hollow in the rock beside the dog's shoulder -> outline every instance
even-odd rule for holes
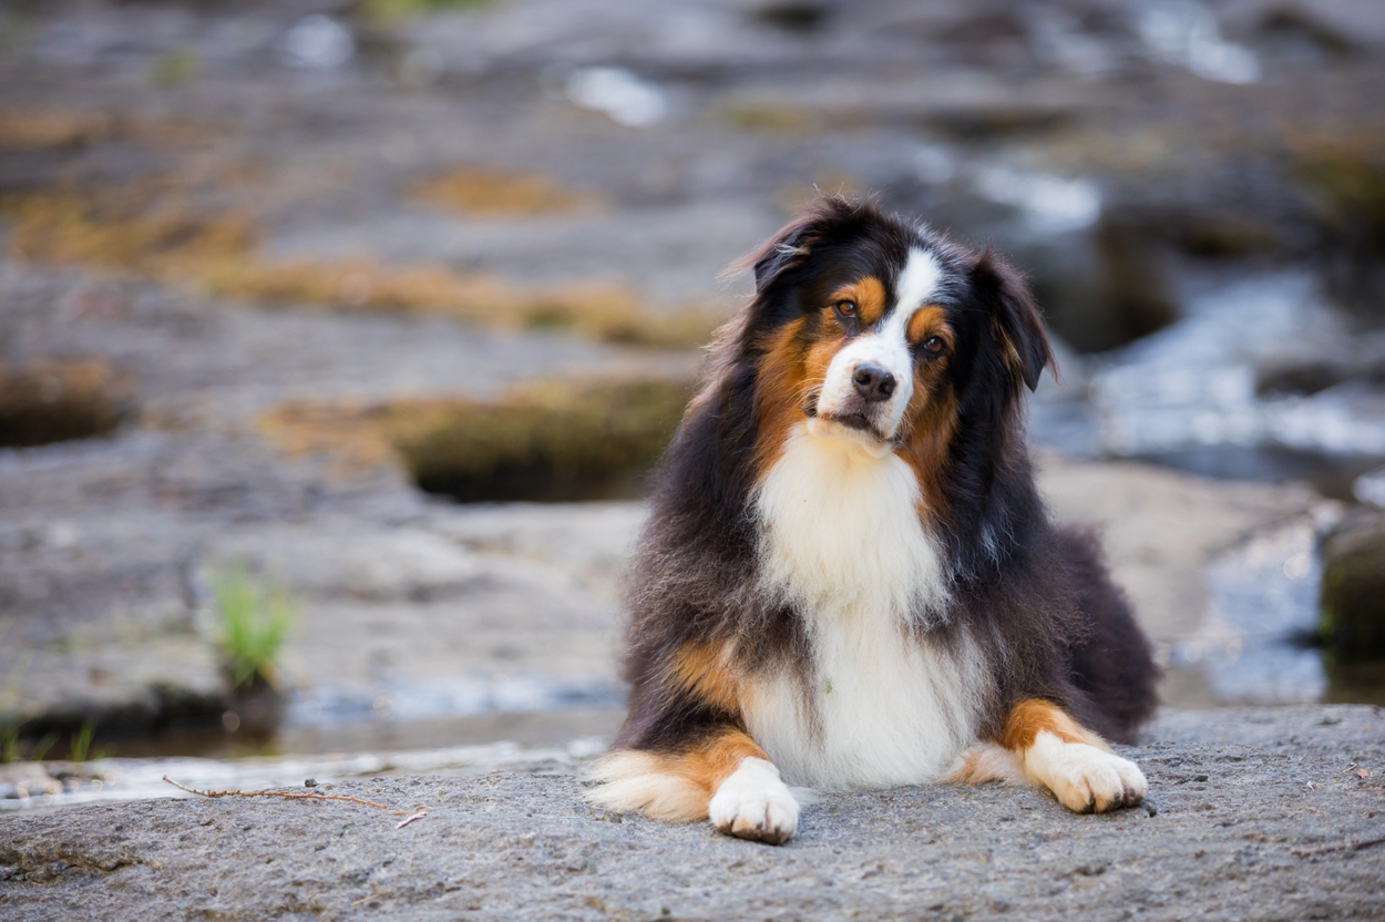
[[[543,382],[490,403],[287,406],[260,424],[289,454],[325,453],[346,469],[396,462],[424,490],[461,501],[612,498],[643,491],[691,390],[663,379]]]

